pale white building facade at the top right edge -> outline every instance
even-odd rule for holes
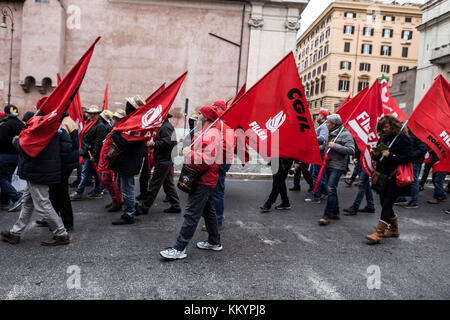
[[[430,0],[421,9],[423,19],[417,27],[421,46],[414,106],[439,74],[450,80],[450,0]]]

